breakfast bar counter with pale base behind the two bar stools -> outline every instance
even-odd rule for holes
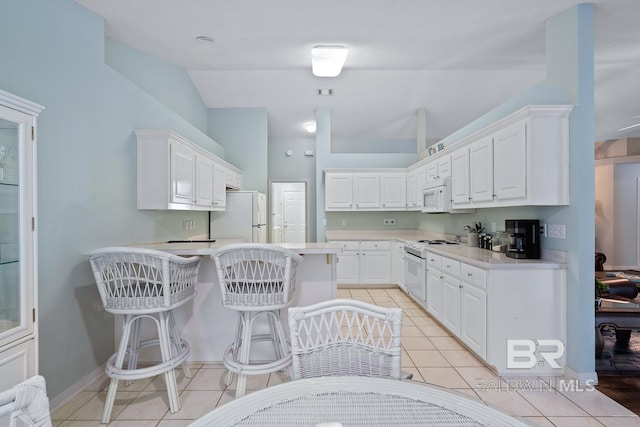
[[[216,242],[180,242],[131,244],[129,246],[156,249],[181,256],[200,256],[197,294],[194,299],[174,310],[181,336],[191,345],[190,361],[221,362],[224,351],[234,340],[237,314],[222,306],[220,285],[211,255],[219,249],[241,240]],[[336,297],[336,261],[342,252],[332,243],[278,244],[303,256],[298,265],[296,288],[291,306],[305,306]],[[286,315],[283,316],[286,319]],[[143,335],[145,334],[143,325]],[[151,325],[149,325],[151,326]],[[287,325],[284,325],[288,333]],[[116,333],[119,332],[116,328]],[[265,346],[266,347],[266,346]],[[257,349],[258,352],[261,349]],[[270,351],[270,349],[264,349]],[[145,355],[145,357],[154,357]]]

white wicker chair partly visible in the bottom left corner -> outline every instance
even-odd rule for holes
[[[0,425],[51,427],[47,385],[40,375],[0,393]],[[18,422],[19,421],[19,422]]]

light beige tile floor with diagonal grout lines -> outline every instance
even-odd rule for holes
[[[338,297],[403,309],[402,366],[413,379],[456,389],[522,416],[539,426],[640,426],[640,418],[614,400],[592,390],[557,391],[518,386],[498,379],[465,350],[434,319],[396,288],[340,288]],[[224,385],[221,364],[191,363],[192,378],[177,371],[181,409],[168,411],[164,380],[156,377],[121,387],[110,426],[180,427],[234,399],[234,384]],[[54,426],[100,426],[107,378],[83,390],[52,414]],[[284,373],[250,377],[247,389],[258,390],[283,381]]]

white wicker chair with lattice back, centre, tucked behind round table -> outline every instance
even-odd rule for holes
[[[289,308],[292,379],[401,378],[402,309],[336,299]]]

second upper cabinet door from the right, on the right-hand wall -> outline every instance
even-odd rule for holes
[[[472,202],[493,200],[493,139],[483,138],[469,147],[469,188]]]

